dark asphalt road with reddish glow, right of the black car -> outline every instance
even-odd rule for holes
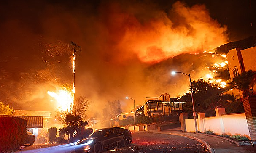
[[[104,153],[209,153],[201,143],[180,137],[151,132],[133,132],[129,147],[108,150]]]

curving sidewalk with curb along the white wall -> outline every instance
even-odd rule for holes
[[[169,135],[179,135],[195,139],[204,144],[210,153],[256,153],[256,146],[246,145],[240,146],[237,142],[216,135],[208,135],[203,133],[182,132],[180,128],[169,129],[164,131],[152,130],[148,132],[164,133]]]

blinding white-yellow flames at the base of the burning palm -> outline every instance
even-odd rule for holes
[[[72,92],[62,89],[57,93],[51,91],[48,91],[47,93],[57,101],[58,108],[60,108],[62,111],[72,111],[74,102]]]

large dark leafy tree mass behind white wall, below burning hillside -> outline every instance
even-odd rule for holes
[[[240,107],[240,103],[236,103],[234,95],[221,94],[226,89],[219,89],[216,85],[210,84],[210,82],[204,81],[203,79],[199,79],[191,83],[193,87],[193,99],[196,112],[205,112],[206,116],[211,116],[215,114],[214,109],[216,107],[224,107],[226,109],[233,107],[233,112],[232,109],[229,109],[229,113],[243,111],[243,107]],[[188,113],[189,117],[191,117],[193,112],[191,93],[183,95],[180,100],[186,102],[183,105],[183,110]],[[234,104],[237,104],[237,106]]]

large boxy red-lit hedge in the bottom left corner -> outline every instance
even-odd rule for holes
[[[18,117],[0,118],[0,153],[12,153],[24,145],[27,121]]]

